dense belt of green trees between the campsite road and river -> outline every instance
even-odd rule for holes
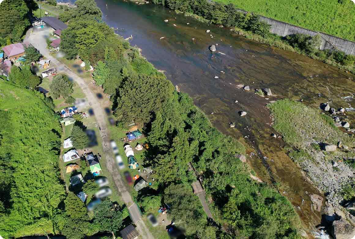
[[[94,66],[93,77],[110,96],[118,127],[134,121],[147,135],[145,163],[152,165],[158,189],[139,192],[145,211],[169,203],[170,217],[188,238],[300,237],[290,202],[253,181],[249,166],[235,156],[245,151],[240,142],[213,128],[187,94],[176,92],[164,74],[106,24],[76,14],[68,21],[61,37],[66,57],[79,54]],[[203,177],[217,224],[207,220],[192,193],[196,176],[188,170],[189,162]]]

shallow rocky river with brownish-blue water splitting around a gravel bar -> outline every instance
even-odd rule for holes
[[[312,107],[327,101],[335,108],[355,107],[353,98],[342,99],[353,96],[354,75],[231,34],[227,28],[198,22],[160,5],[95,1],[103,20],[124,38],[132,35],[131,45],[141,48],[149,62],[187,92],[215,127],[247,142],[247,153],[256,155],[247,157],[248,163],[263,181],[278,182],[280,193],[294,205],[307,232],[320,223],[321,214],[311,208],[309,195],[323,193],[285,154],[283,140],[270,137],[275,132],[266,104],[291,98]],[[164,22],[165,19],[169,21]],[[209,51],[211,44],[216,44],[214,53]],[[251,90],[238,89],[238,84],[249,85]],[[270,88],[273,96],[262,98],[254,94],[256,88]],[[246,111],[247,115],[240,117],[238,111]],[[348,116],[355,118],[354,112]],[[235,128],[229,128],[229,122],[235,122]]]

